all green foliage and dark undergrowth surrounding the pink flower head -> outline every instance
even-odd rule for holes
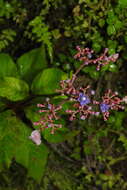
[[[100,72],[85,66],[74,88],[91,85],[98,100],[107,89],[126,97],[126,21],[126,0],[0,0],[0,189],[127,189],[126,106],[105,122],[70,122],[72,104],[56,92],[79,69],[73,56],[81,45],[119,59]],[[63,127],[42,131],[37,146],[29,136],[47,97],[63,102]]]

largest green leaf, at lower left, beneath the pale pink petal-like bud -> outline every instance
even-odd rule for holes
[[[31,129],[12,111],[0,115],[0,170],[9,167],[12,158],[28,169],[28,175],[40,182],[47,161],[48,149],[30,139]]]

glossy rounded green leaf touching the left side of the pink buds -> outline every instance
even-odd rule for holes
[[[58,68],[45,69],[35,77],[32,83],[34,94],[54,94],[60,88],[59,82],[67,75]]]

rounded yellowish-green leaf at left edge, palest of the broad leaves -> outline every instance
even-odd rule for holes
[[[29,87],[23,81],[14,77],[0,78],[0,97],[11,101],[23,100],[29,95]]]

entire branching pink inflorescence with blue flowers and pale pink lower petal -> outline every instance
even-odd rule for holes
[[[60,81],[60,89],[56,90],[62,96],[65,95],[66,102],[71,102],[71,109],[67,109],[65,114],[69,115],[69,120],[75,119],[86,120],[90,116],[102,115],[104,121],[109,118],[112,110],[123,110],[123,103],[126,103],[125,98],[118,97],[118,92],[112,92],[111,89],[105,92],[104,96],[100,100],[94,100],[95,91],[88,85],[86,87],[76,88],[74,81],[77,78],[77,74],[86,65],[95,64],[97,70],[104,65],[115,62],[118,59],[118,54],[108,56],[108,49],[106,48],[104,53],[98,58],[94,58],[93,50],[89,48],[81,49],[77,46],[78,53],[74,56],[75,59],[82,61],[81,66],[73,74],[71,79]],[[126,98],[127,99],[127,98]],[[39,121],[34,122],[35,126],[39,126],[39,129],[34,130],[29,137],[35,144],[41,144],[40,132],[46,128],[51,129],[51,134],[54,134],[55,130],[62,127],[57,121],[60,119],[60,112],[62,110],[61,105],[54,105],[50,103],[49,99],[46,99],[45,104],[37,104],[39,113],[42,117]],[[96,111],[97,110],[97,111]]]

